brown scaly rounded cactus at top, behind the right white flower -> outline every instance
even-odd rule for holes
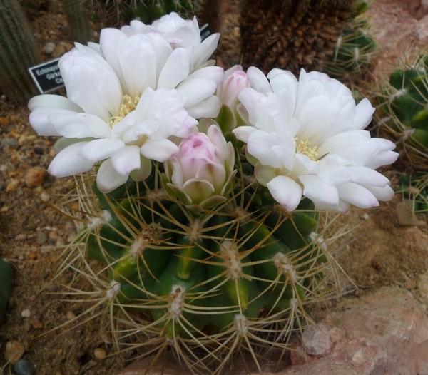
[[[352,17],[353,0],[245,0],[240,4],[243,65],[263,71],[320,71]]]

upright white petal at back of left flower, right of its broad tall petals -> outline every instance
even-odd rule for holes
[[[158,88],[175,88],[188,77],[189,54],[184,48],[177,48],[170,54],[158,78]]]

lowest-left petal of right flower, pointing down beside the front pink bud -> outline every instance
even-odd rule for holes
[[[267,183],[273,199],[289,212],[294,211],[302,199],[302,187],[287,176],[277,176]]]

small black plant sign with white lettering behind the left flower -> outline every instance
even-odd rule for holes
[[[31,78],[40,93],[49,93],[64,86],[58,66],[59,58],[29,68]]]

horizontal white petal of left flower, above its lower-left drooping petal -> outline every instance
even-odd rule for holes
[[[88,113],[52,113],[49,120],[60,135],[67,138],[109,138],[111,128],[100,118]]]

